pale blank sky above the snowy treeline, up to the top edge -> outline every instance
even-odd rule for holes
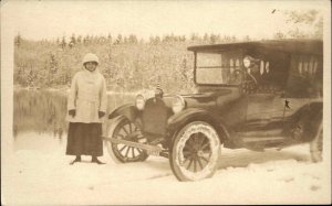
[[[1,2],[6,29],[31,40],[63,35],[187,35],[216,33],[271,37],[288,29],[284,10],[318,9],[328,1],[18,1]],[[272,13],[272,11],[276,11]]]

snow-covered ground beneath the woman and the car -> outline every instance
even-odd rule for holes
[[[314,204],[331,203],[331,171],[310,162],[309,145],[252,152],[222,149],[212,178],[178,182],[168,160],[69,165],[65,138],[25,133],[6,156],[2,204]]]

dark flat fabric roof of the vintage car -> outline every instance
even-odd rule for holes
[[[209,44],[189,46],[188,51],[218,53],[229,50],[262,48],[288,53],[323,54],[323,41],[321,40],[262,40],[252,42],[236,42],[224,44]]]

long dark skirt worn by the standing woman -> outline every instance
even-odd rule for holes
[[[102,123],[70,122],[68,155],[103,155]]]

